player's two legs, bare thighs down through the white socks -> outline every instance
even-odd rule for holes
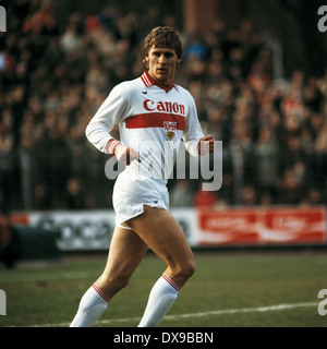
[[[72,326],[93,325],[106,302],[128,285],[148,246],[166,262],[167,269],[152,289],[140,326],[157,326],[193,275],[193,253],[168,210],[144,206],[144,213],[126,224],[133,230],[114,229],[106,268],[83,297]]]

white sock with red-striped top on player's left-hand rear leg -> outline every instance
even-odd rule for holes
[[[110,298],[93,284],[82,297],[77,313],[70,327],[92,327],[106,311],[109,300]]]

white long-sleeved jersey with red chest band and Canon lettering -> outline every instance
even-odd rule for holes
[[[204,136],[192,95],[174,83],[170,88],[156,85],[147,72],[111,91],[87,125],[86,136],[107,153],[116,124],[120,142],[140,152],[141,163],[132,161],[129,170],[165,180],[173,169],[180,141],[197,156]]]

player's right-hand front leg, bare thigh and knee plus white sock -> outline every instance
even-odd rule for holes
[[[138,327],[155,327],[194,273],[193,254],[182,229],[166,209],[145,206],[144,214],[128,224],[168,265],[154,285],[138,324]]]

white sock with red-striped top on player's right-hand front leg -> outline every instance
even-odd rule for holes
[[[181,287],[165,273],[153,287],[138,327],[156,327],[175,301]]]

